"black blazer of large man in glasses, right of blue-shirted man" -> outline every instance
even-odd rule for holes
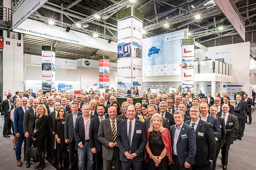
[[[186,121],[190,124],[191,120]],[[216,140],[212,125],[203,120],[199,120],[196,127],[196,155],[195,164],[197,166],[206,165],[209,159],[214,161],[216,153]],[[199,135],[201,134],[201,136]],[[203,136],[202,136],[203,134]]]

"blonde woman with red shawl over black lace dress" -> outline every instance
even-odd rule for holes
[[[156,113],[150,120],[147,130],[145,160],[150,170],[167,170],[172,160],[172,145],[169,130],[162,126],[162,117]]]

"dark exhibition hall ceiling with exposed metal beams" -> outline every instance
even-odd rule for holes
[[[252,31],[253,25],[256,25],[256,0],[230,0],[236,4],[238,11],[241,14],[242,19],[245,21],[246,31]],[[120,2],[120,0],[48,0],[41,8],[34,14],[47,17],[49,19],[61,21],[68,24],[76,24],[77,22],[94,15],[95,13],[108,8],[111,5]],[[197,12],[213,9],[212,12],[207,13],[201,19],[188,19],[182,20],[175,24],[169,25],[168,28],[151,28],[146,31],[143,38],[161,35],[163,33],[178,31],[180,29],[188,28],[189,32],[196,33],[205,31],[208,29],[227,27],[230,22],[226,19],[222,12],[219,12],[219,8],[213,0],[136,0],[135,7],[140,9],[144,13],[143,27],[162,23],[164,21],[177,19],[182,14],[188,13],[195,14]],[[126,8],[123,7],[123,8]],[[121,8],[121,9],[123,9]],[[193,10],[193,9],[196,10]],[[216,8],[216,12],[214,12]],[[120,10],[120,9],[118,9]],[[89,26],[86,29],[98,33],[102,33],[107,36],[117,36],[117,11],[113,11],[108,14],[108,17],[103,19],[94,19],[93,21],[86,23]],[[214,35],[197,37],[196,41],[208,41],[210,39],[216,39],[222,37],[222,35],[229,36],[236,34],[236,31],[230,31],[223,29],[221,32],[217,32]],[[49,39],[42,39],[29,35],[24,36],[24,52],[38,54],[40,41],[45,41],[49,45],[54,45],[56,41]],[[67,48],[72,47],[72,48]],[[31,50],[31,46],[35,46]],[[60,53],[56,54],[57,57],[65,58],[92,58],[98,59],[98,56],[104,54],[103,50],[98,50],[89,47],[77,46],[75,44],[69,44],[64,42],[58,42],[56,49],[60,48]],[[85,50],[84,50],[85,49]],[[70,54],[65,54],[65,53]],[[73,54],[73,55],[72,55]],[[115,62],[117,60],[117,54],[113,52],[106,52],[110,55],[110,60]]]

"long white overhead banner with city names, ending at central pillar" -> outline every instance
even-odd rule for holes
[[[17,28],[13,29],[15,32],[25,33],[38,37],[49,38],[57,41],[64,41],[67,43],[78,44],[81,46],[92,47],[96,49],[117,52],[117,43],[108,43],[108,40],[93,37],[82,32],[65,31],[66,28],[57,27],[55,25],[48,25],[43,22],[26,19]]]

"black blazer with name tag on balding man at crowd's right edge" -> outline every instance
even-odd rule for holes
[[[222,112],[218,112],[217,116],[221,117]],[[231,115],[229,113],[229,116],[227,117],[227,123],[225,126],[225,131],[226,131],[226,145],[231,145],[233,144],[233,139],[234,139],[234,132],[238,130],[238,119],[236,116]]]

